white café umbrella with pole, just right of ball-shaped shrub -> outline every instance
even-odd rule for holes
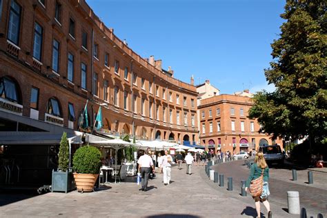
[[[134,143],[130,143],[128,141],[123,141],[121,139],[111,139],[111,140],[103,140],[103,141],[89,141],[90,144],[94,146],[103,146],[103,148],[114,148],[115,152],[115,172],[117,172],[117,152],[121,148],[125,148],[126,146],[135,146]],[[115,174],[115,183],[117,183],[117,174]]]

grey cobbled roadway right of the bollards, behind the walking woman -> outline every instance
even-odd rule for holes
[[[232,161],[212,167],[224,177],[232,177],[233,184],[240,189],[241,180],[248,178],[249,170],[244,161]],[[309,169],[310,170],[310,169]],[[313,169],[313,184],[308,184],[308,170],[297,170],[297,181],[293,181],[290,168],[270,168],[269,201],[279,208],[287,209],[287,191],[299,192],[300,206],[306,208],[308,215],[317,217],[318,213],[327,216],[327,170]],[[240,191],[239,191],[240,192]]]

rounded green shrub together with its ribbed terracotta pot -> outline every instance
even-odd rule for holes
[[[76,150],[72,164],[77,190],[92,192],[99,176],[101,152],[93,146],[83,146]]]

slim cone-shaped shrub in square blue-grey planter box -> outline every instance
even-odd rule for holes
[[[69,192],[75,189],[75,181],[69,169],[69,144],[67,133],[63,132],[59,148],[59,164],[57,170],[52,170],[52,192]]]

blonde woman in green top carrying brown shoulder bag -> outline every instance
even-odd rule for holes
[[[260,196],[252,196],[252,197],[253,199],[255,199],[255,210],[257,210],[257,217],[260,217],[260,202],[262,202],[268,211],[268,218],[271,218],[273,214],[270,211],[270,204],[267,199],[268,196],[270,195],[269,187],[268,187],[269,168],[266,163],[266,160],[264,159],[264,153],[259,151],[255,155],[255,162],[251,166],[250,175],[248,176],[248,180],[246,181],[246,188],[245,188],[246,191],[250,186],[250,182],[253,179],[257,179],[261,177],[261,174],[263,174],[263,179],[264,179],[262,193]]]

